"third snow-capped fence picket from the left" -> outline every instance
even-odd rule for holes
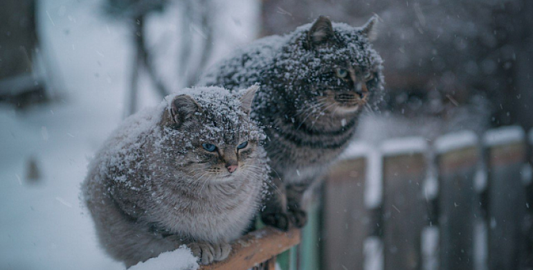
[[[473,270],[474,226],[479,203],[474,177],[480,162],[473,132],[435,141],[439,172],[440,270]]]

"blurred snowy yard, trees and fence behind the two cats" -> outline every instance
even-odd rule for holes
[[[374,14],[386,94],[297,267],[533,269],[529,0],[1,1],[0,269],[121,269],[79,200],[116,125],[254,39]]]

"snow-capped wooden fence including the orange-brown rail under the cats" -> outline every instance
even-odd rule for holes
[[[355,143],[301,231],[264,228],[202,269],[533,269],[533,130]]]

